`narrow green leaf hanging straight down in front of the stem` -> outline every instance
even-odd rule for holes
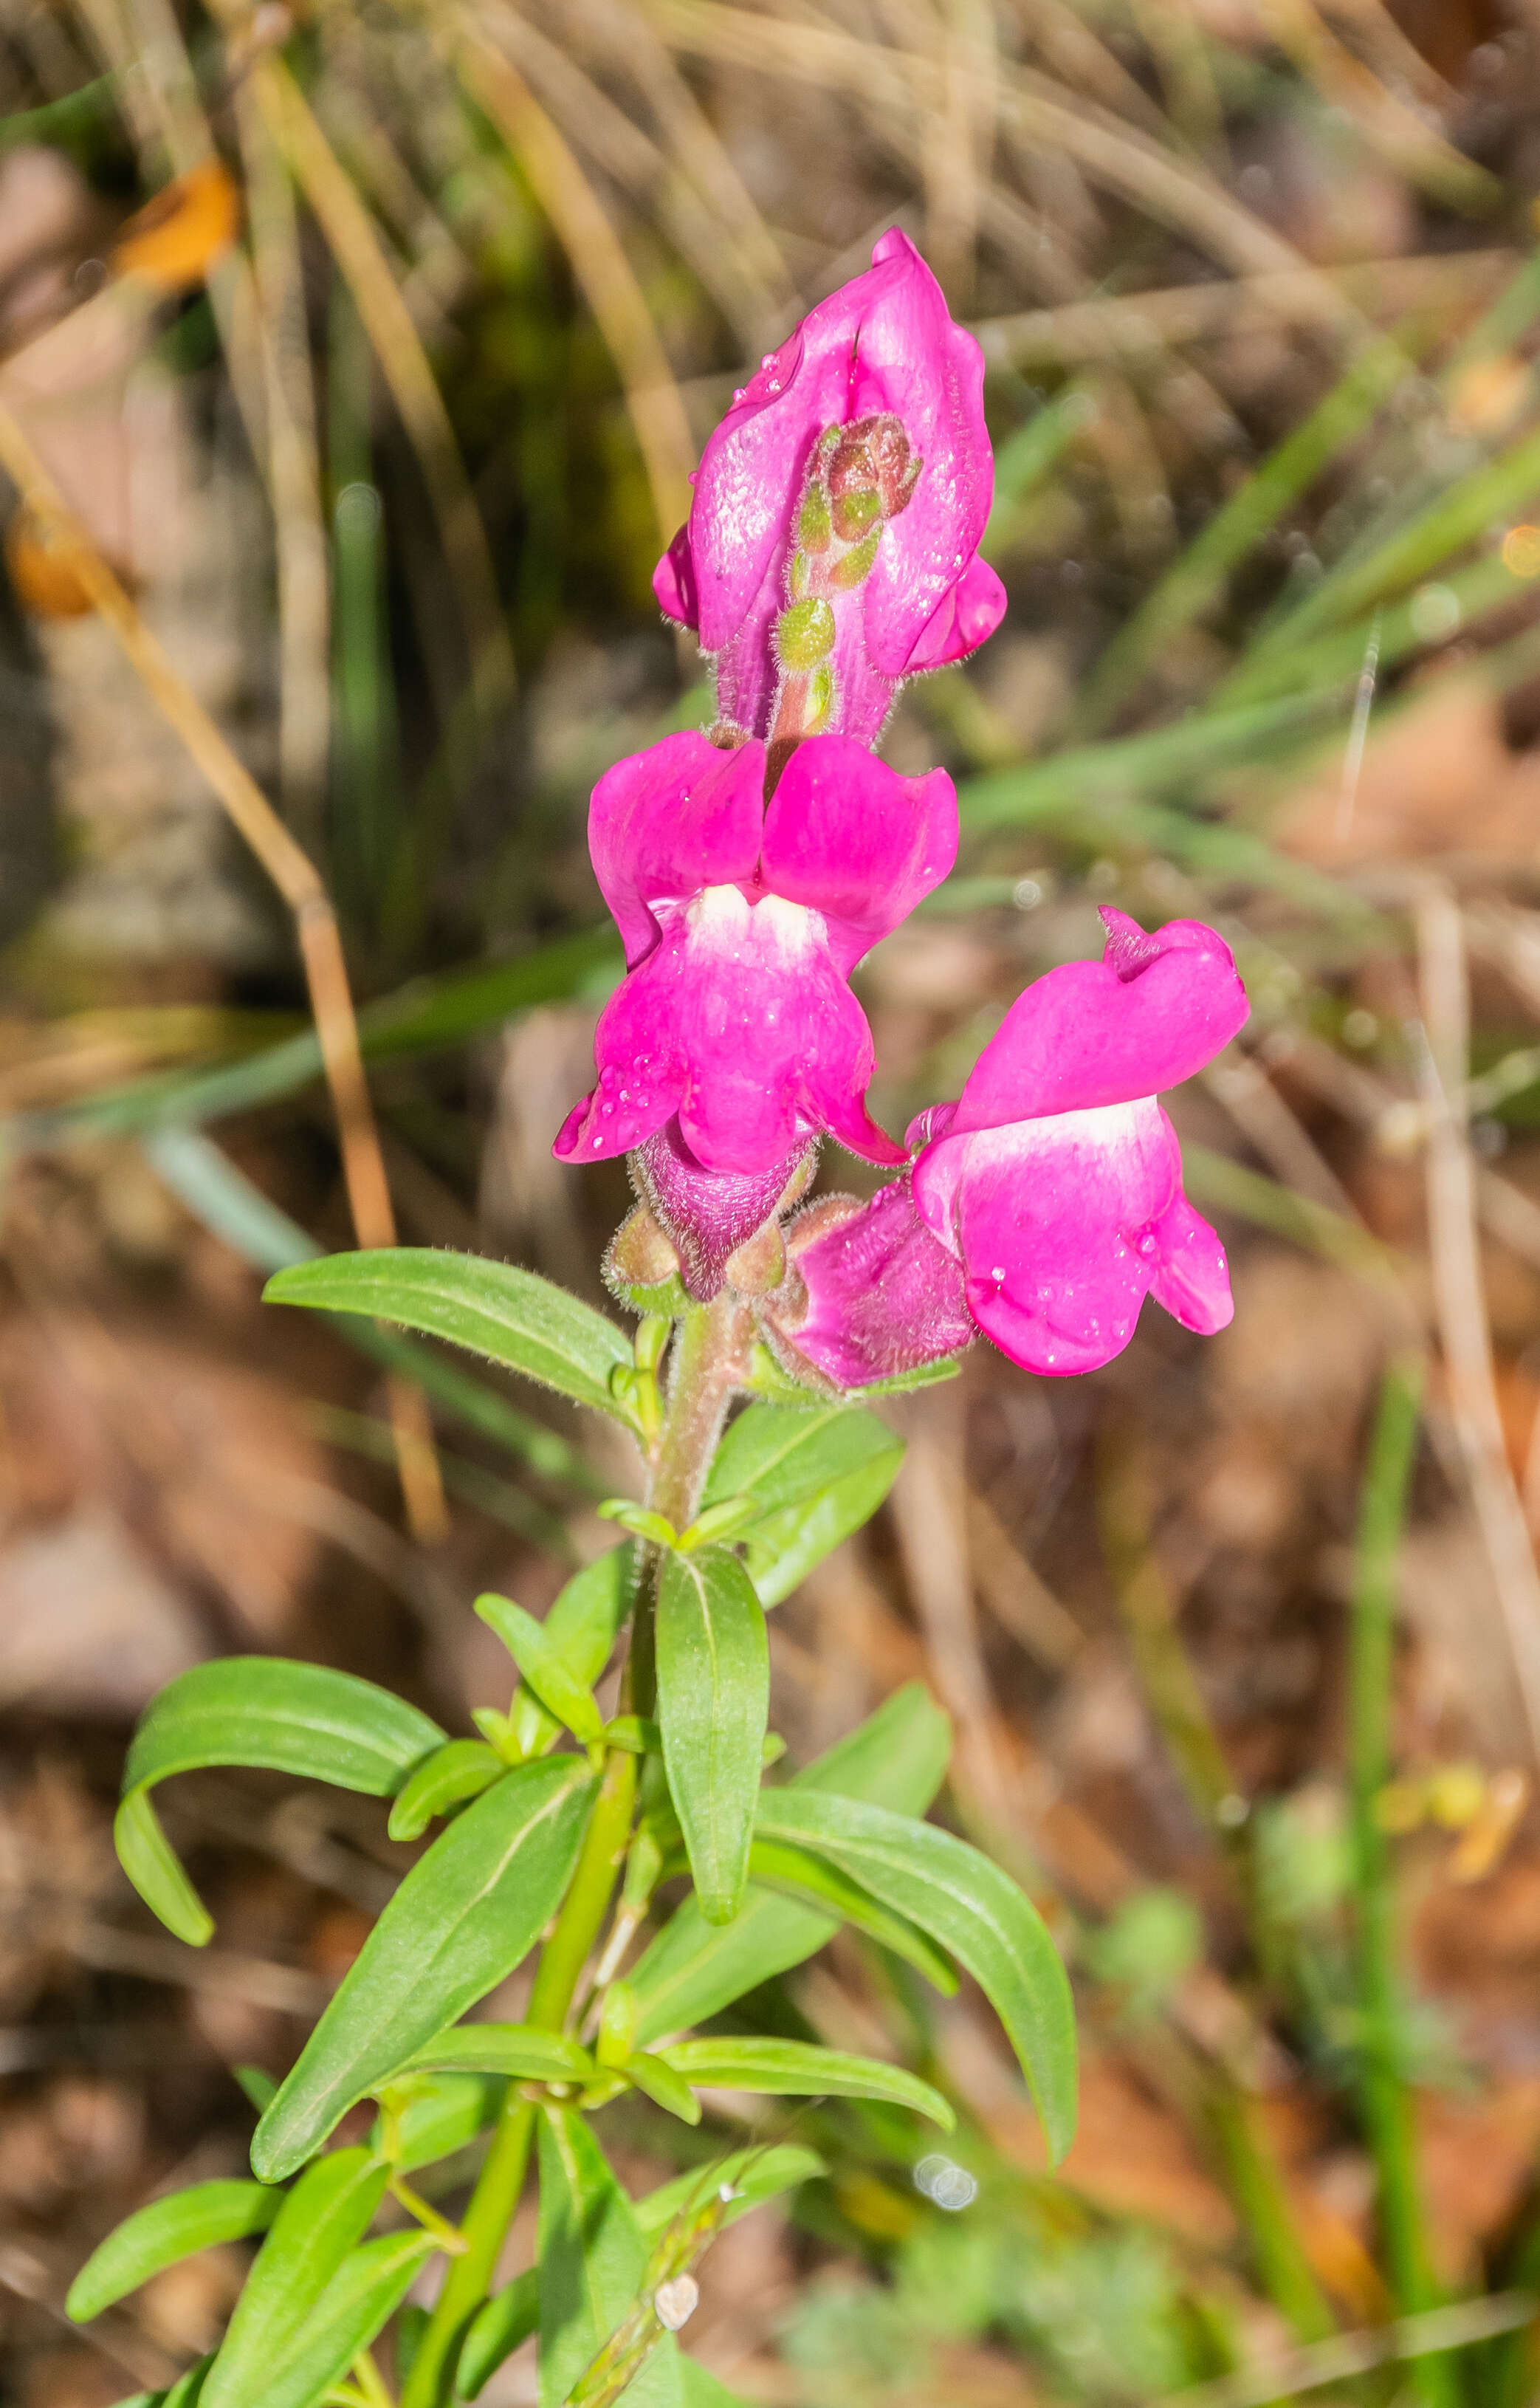
[[[707,1924],[744,1902],[770,1645],[753,1582],[724,1546],[664,1556],[657,1584],[657,1724],[669,1796]]]

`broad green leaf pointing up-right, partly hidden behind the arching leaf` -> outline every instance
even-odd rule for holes
[[[900,1813],[924,1813],[950,1755],[950,1722],[910,1681],[876,1714],[792,1780],[792,1789],[830,1789]],[[748,1883],[732,1924],[712,1926],[686,1898],[628,1979],[638,1996],[638,2042],[681,2032],[717,2015],[746,1989],[801,1965],[840,1929],[837,1914],[777,1898]]]

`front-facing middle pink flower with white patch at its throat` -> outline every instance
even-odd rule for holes
[[[763,790],[763,744],[724,751],[698,732],[594,787],[590,852],[628,968],[561,1161],[630,1153],[669,1129],[686,1173],[763,1180],[765,1211],[823,1129],[866,1161],[905,1161],[866,1112],[871,1031],[845,980],[948,874],[953,783],[808,737],[768,804]]]

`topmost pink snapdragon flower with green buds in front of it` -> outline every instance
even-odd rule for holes
[[[893,229],[734,397],[652,580],[715,655],[724,720],[869,744],[900,679],[994,633],[982,388],[979,344]]]

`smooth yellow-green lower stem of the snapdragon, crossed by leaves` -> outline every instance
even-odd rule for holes
[[[630,1808],[635,1799],[635,1755],[618,1748],[604,1767],[604,1782],[587,1825],[578,1871],[556,1919],[556,1931],[546,1941],[529,1994],[527,2023],[558,2032],[565,2023],[578,1975],[587,1960],[599,1924],[609,1910],[621,1857],[630,1837]],[[508,2239],[508,2225],[525,2189],[529,2165],[529,2141],[534,2133],[532,2102],[510,2085],[503,2114],[493,2131],[486,2162],[472,2191],[472,2203],[460,2227],[464,2256],[455,2259],[438,2295],[407,2389],[402,2408],[448,2408],[455,2389],[455,2365],[464,2331],[486,2300],[498,2254]]]

